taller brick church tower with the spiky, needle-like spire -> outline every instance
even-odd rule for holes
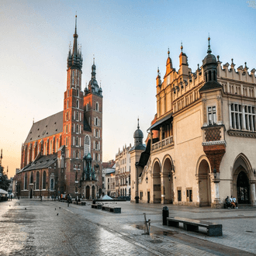
[[[81,91],[83,58],[78,47],[77,16],[75,16],[74,43],[67,56],[67,90],[64,92],[63,145],[65,145],[64,191],[74,195],[82,174],[84,93]]]

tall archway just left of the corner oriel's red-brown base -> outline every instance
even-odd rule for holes
[[[202,160],[199,164],[199,206],[211,206],[211,181],[209,164]]]

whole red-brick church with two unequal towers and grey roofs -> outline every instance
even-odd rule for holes
[[[33,123],[22,144],[15,176],[16,195],[22,198],[71,194],[95,199],[102,194],[102,88],[93,61],[92,78],[82,91],[82,63],[75,22],[64,109]]]

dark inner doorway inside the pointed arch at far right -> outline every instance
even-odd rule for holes
[[[244,171],[240,171],[237,176],[237,202],[250,203],[250,185],[247,175]]]

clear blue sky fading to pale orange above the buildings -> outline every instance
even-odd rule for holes
[[[34,122],[63,110],[67,52],[78,16],[82,89],[96,78],[103,95],[103,161],[115,159],[133,133],[156,113],[157,67],[165,74],[168,47],[188,56],[194,72],[206,56],[208,35],[223,64],[234,58],[256,68],[256,3],[191,0],[0,0],[0,149],[9,177],[20,167],[22,143]]]

